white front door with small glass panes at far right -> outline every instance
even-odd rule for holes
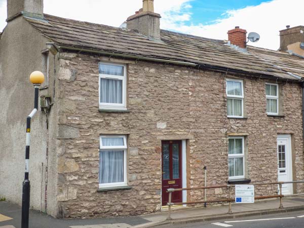
[[[292,181],[291,137],[278,135],[278,181]],[[282,185],[282,194],[292,194],[292,183]]]

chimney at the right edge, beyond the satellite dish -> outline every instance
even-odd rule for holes
[[[304,56],[304,26],[296,26],[280,31],[280,51],[292,51]]]

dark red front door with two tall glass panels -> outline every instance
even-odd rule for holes
[[[181,141],[162,141],[162,205],[169,202],[167,188],[181,188]],[[172,203],[182,202],[182,191],[172,193]]]

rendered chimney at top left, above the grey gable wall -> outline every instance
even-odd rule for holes
[[[14,16],[21,12],[27,13],[31,17],[43,17],[43,0],[7,0],[8,19],[10,21]]]

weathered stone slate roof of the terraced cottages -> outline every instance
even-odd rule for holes
[[[45,14],[45,20],[26,18],[50,41],[95,51],[138,57],[196,63],[241,72],[269,75],[284,80],[297,80],[288,72],[304,79],[304,59],[288,53],[248,47],[247,53],[235,50],[226,41],[161,30],[161,41],[125,28],[75,21]]]

